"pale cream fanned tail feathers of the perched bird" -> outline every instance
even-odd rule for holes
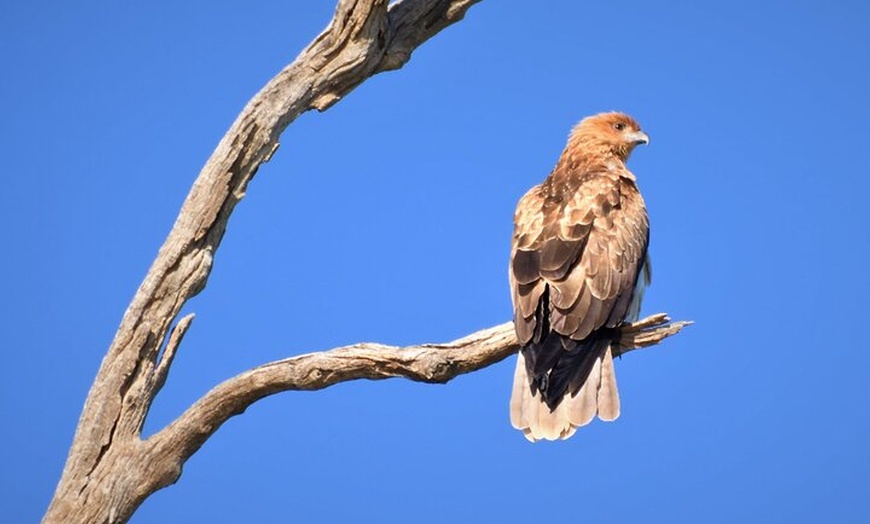
[[[583,386],[573,395],[566,392],[552,410],[542,401],[540,392],[529,387],[525,357],[520,352],[514,372],[510,412],[511,424],[532,442],[566,439],[577,428],[591,422],[596,414],[601,420],[616,420],[619,417],[619,392],[610,344],[602,345]]]

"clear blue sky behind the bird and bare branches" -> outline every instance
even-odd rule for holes
[[[508,320],[514,205],[611,109],[652,137],[630,162],[652,221],[644,312],[696,321],[617,362],[617,422],[529,444],[508,421],[513,361],[282,394],[132,522],[870,521],[870,4],[700,4],[487,0],[300,118],[186,308],[147,430],[269,360]],[[44,512],[199,168],[332,9],[4,9],[4,519]]]

